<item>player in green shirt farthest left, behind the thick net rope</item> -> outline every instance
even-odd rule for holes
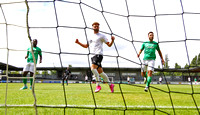
[[[42,63],[42,51],[39,47],[37,47],[37,39],[33,40],[33,51],[34,51],[34,57],[35,57],[36,64],[37,64],[37,60],[38,60],[38,55],[40,56],[40,63]],[[31,48],[27,49],[27,55],[26,55],[25,59],[27,59],[27,64],[23,69],[23,77],[26,77],[28,72],[30,72],[30,76],[33,77],[34,61],[33,61],[33,56],[31,53]],[[33,82],[33,79],[30,79],[30,89],[32,89],[32,82]],[[24,86],[22,88],[20,88],[20,90],[28,88],[26,85],[27,79],[23,79],[23,83],[24,83]]]

